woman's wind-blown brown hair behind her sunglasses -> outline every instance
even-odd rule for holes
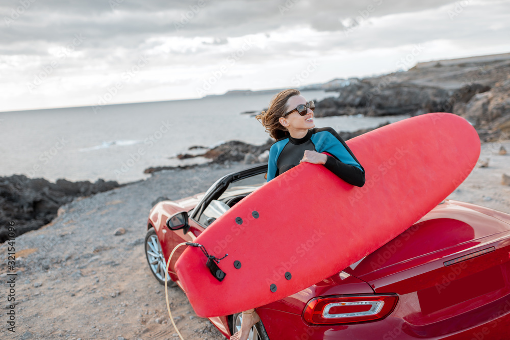
[[[278,140],[288,135],[287,129],[278,121],[287,113],[287,100],[292,96],[298,96],[301,93],[295,89],[283,90],[276,94],[269,102],[267,111],[262,111],[260,115],[255,116],[266,128],[269,136]]]

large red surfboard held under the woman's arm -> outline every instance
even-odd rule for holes
[[[346,142],[363,165],[354,187],[323,165],[301,163],[253,191],[195,240],[175,269],[199,317],[231,315],[334,275],[409,228],[469,175],[480,153],[462,117],[430,113]],[[221,245],[221,247],[218,247]]]

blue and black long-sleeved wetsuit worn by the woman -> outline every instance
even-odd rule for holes
[[[330,153],[333,156],[327,156],[326,169],[353,186],[363,187],[365,184],[365,169],[331,127],[315,127],[308,130],[303,138],[288,136],[271,145],[267,181],[298,165],[304,150]]]

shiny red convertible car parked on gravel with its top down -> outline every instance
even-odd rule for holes
[[[231,173],[205,194],[152,207],[145,253],[159,282],[173,248],[193,242],[262,186],[266,171],[260,165]],[[171,217],[188,223],[172,230]],[[176,284],[174,265],[184,249],[175,252],[168,272]],[[340,273],[257,312],[261,322],[250,339],[509,339],[510,215],[445,200]],[[210,318],[226,337],[241,319],[241,313]]]

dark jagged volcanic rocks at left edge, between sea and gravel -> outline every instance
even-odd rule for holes
[[[58,208],[79,196],[118,188],[116,181],[98,179],[71,182],[58,179],[55,183],[44,178],[30,179],[24,175],[0,177],[0,242],[7,237],[9,221],[16,223],[17,234],[38,229],[57,216]]]

